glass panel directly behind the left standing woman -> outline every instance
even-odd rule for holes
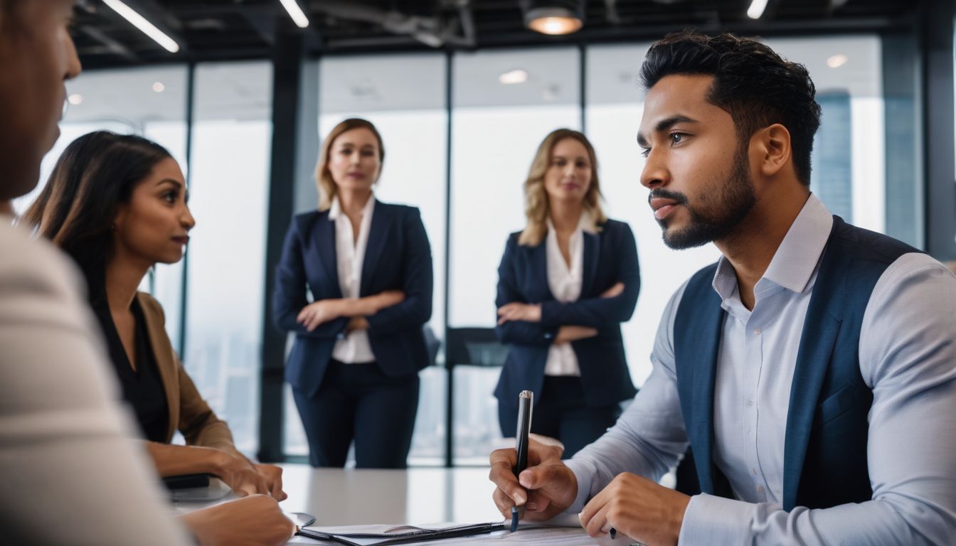
[[[319,63],[318,134],[321,142],[341,120],[363,118],[379,129],[385,162],[375,188],[384,203],[418,207],[434,264],[435,337],[445,335],[445,172],[447,110],[445,55],[371,55]],[[314,150],[317,162],[318,150]],[[420,374],[421,395],[410,465],[445,463],[445,370]],[[291,393],[287,397],[291,398]],[[285,449],[308,453],[294,404],[287,412]],[[350,456],[351,460],[351,456]]]

